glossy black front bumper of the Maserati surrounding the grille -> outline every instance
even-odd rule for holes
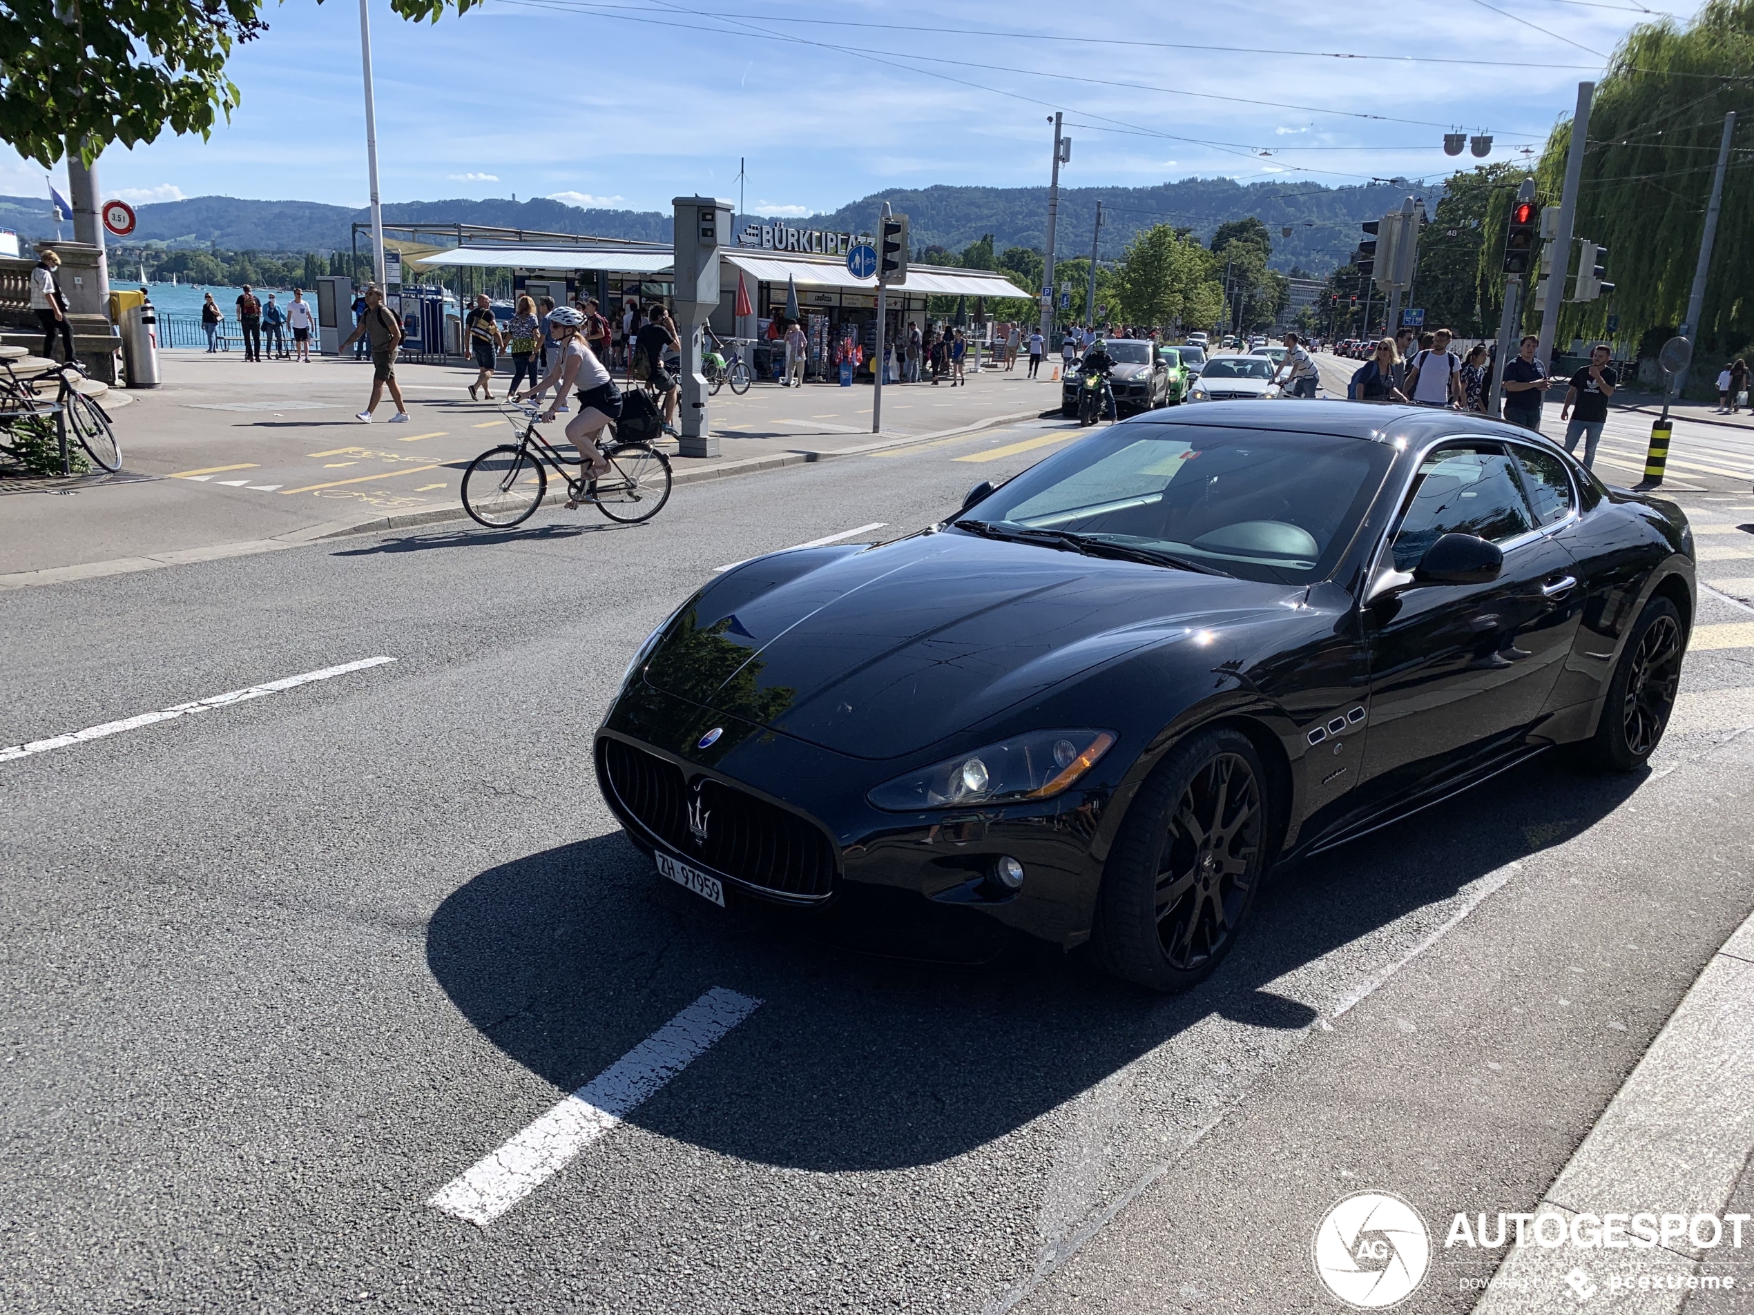
[[[721,736],[698,743],[712,728]],[[702,791],[740,791],[763,808],[781,808],[800,828],[819,831],[833,852],[824,892],[775,889],[766,877],[721,852],[717,866],[702,861],[689,831],[675,822],[642,817],[607,768],[607,740],[674,764],[698,800]],[[961,924],[979,938],[1010,929],[1056,945],[1077,945],[1089,935],[1102,863],[1093,847],[1112,789],[1066,791],[1054,800],[931,814],[888,814],[865,793],[914,761],[875,763],[738,722],[635,677],[617,696],[596,736],[595,761],[603,800],[630,838],[647,852],[665,850],[719,877],[730,892],[812,915],[888,922]],[[723,794],[719,796],[723,798]],[[710,829],[712,822],[707,821]],[[998,887],[991,870],[1000,856],[1024,866],[1021,891]]]

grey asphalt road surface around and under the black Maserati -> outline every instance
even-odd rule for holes
[[[1344,1192],[1531,1208],[1754,906],[1745,493],[1687,503],[1728,591],[1651,771],[1537,761],[1289,871],[1187,996],[726,915],[603,808],[602,710],[716,566],[1072,435],[0,596],[0,745],[174,710],[0,752],[0,1304],[1337,1310]],[[472,1171],[484,1226],[430,1205]]]

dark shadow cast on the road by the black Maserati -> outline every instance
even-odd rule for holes
[[[630,1122],[784,1168],[933,1164],[1016,1131],[1214,1013],[1249,1027],[1312,1026],[1316,1010],[1280,994],[1280,978],[1572,838],[1638,780],[1537,761],[1282,871],[1237,952],[1182,996],[1112,982],[1086,954],[945,968],[852,952],[661,882],[619,833],[481,873],[435,912],[426,957],[456,1008],[561,1092],[710,987],[756,996],[761,1008]],[[1386,963],[1393,952],[1380,954]],[[1335,971],[1356,982],[1380,966]]]

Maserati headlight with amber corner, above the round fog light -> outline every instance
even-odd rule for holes
[[[1089,771],[1114,731],[1035,731],[888,780],[866,798],[889,812],[1047,800]]]

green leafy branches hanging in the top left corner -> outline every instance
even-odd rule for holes
[[[391,0],[437,19],[481,0]],[[167,128],[207,137],[239,105],[232,49],[267,30],[261,0],[5,0],[0,4],[0,137],[49,168],[68,142],[91,161],[111,142]]]

